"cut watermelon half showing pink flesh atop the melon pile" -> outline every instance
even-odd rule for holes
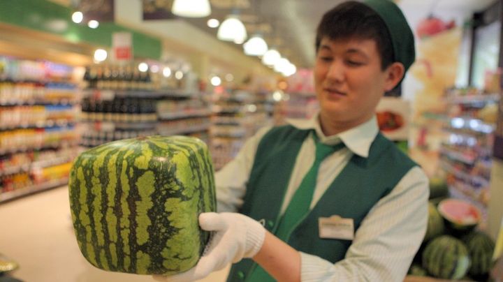
[[[454,230],[472,230],[481,221],[481,211],[465,200],[449,198],[439,202],[440,215]]]

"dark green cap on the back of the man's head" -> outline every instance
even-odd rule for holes
[[[405,73],[416,59],[414,34],[405,20],[402,10],[390,0],[366,0],[363,2],[374,10],[388,27],[395,61],[404,65]]]

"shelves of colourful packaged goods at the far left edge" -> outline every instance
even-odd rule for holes
[[[66,184],[79,103],[73,67],[0,56],[0,202]]]

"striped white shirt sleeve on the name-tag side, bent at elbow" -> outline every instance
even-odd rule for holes
[[[428,224],[428,177],[414,167],[363,219],[344,260],[300,253],[301,281],[403,281]]]

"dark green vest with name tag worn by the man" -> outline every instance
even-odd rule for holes
[[[258,144],[240,212],[264,223],[272,233],[277,228],[297,154],[309,132],[289,125],[279,126],[266,133]],[[342,260],[351,241],[321,239],[318,218],[333,215],[353,218],[356,232],[370,209],[414,166],[416,163],[379,133],[368,158],[353,155],[319,202],[293,229],[287,243],[297,251],[330,262]],[[251,259],[238,262],[231,268],[227,281],[244,281],[254,267],[256,264]]]

